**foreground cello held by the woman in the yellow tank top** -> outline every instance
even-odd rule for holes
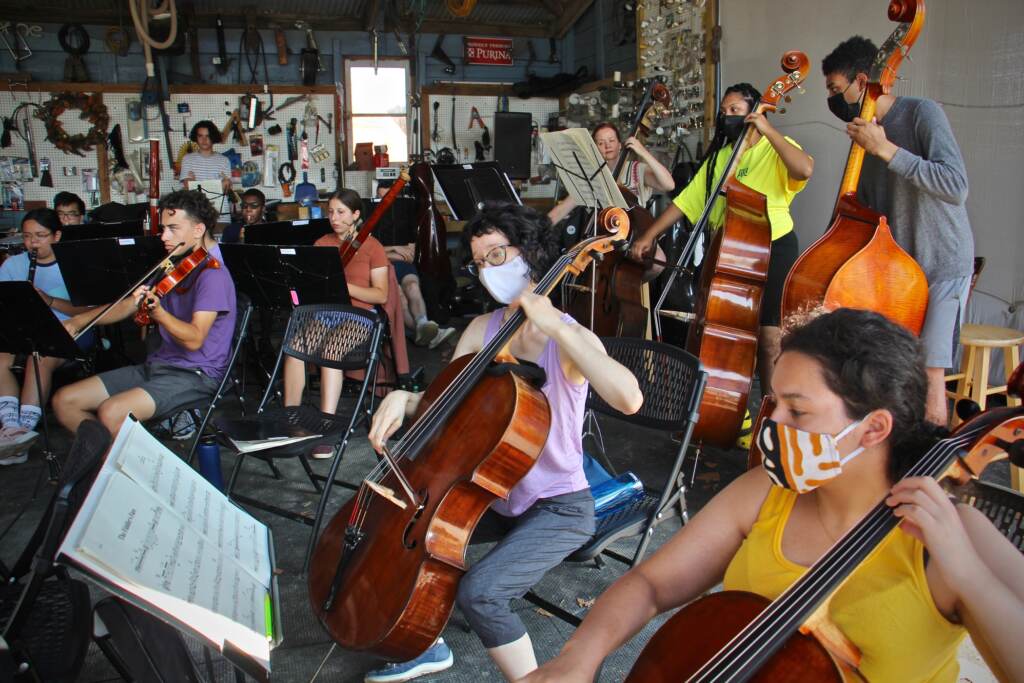
[[[1018,383],[1015,391],[1021,389]],[[904,476],[963,485],[1007,458],[1024,465],[1020,407],[991,410],[965,422]],[[856,669],[860,652],[828,621],[829,597],[900,521],[880,502],[774,601],[722,591],[691,602],[654,634],[627,683],[843,681],[841,666]]]

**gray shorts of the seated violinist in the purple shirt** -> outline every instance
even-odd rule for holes
[[[212,399],[220,386],[220,382],[197,368],[178,368],[165,362],[127,366],[96,377],[112,396],[129,389],[145,391],[157,405],[154,417],[164,417],[176,408]]]

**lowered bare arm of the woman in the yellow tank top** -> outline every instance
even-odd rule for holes
[[[718,584],[754,525],[769,485],[761,470],[730,483],[657,552],[612,584],[561,653],[524,680],[589,683],[604,657],[647,622]]]

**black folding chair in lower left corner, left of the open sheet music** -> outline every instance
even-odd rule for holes
[[[89,648],[89,589],[53,560],[110,443],[98,422],[79,426],[46,513],[0,586],[0,680],[78,677]]]

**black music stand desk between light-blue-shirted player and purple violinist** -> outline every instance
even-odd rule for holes
[[[53,255],[71,302],[98,306],[114,301],[167,256],[160,238],[120,238],[53,243]]]

